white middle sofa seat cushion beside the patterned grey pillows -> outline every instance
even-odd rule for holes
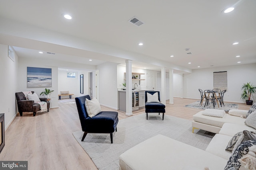
[[[231,138],[232,137],[227,135],[214,135],[208,147],[206,148],[206,151],[228,160],[231,156],[231,152],[228,152],[225,149]]]

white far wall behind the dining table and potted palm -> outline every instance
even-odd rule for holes
[[[200,99],[198,88],[209,90],[213,88],[213,72],[227,71],[228,74],[228,89],[224,94],[226,102],[242,102],[240,99],[241,86],[244,83],[251,82],[256,86],[256,64],[241,64],[238,66],[224,66],[216,68],[196,69],[192,73],[183,74],[183,98]],[[174,91],[178,92],[178,76],[174,82]],[[175,96],[180,96],[177,94]],[[256,102],[256,97],[252,99]]]

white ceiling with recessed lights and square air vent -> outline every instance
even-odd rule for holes
[[[230,6],[234,11],[224,14]],[[256,63],[255,8],[256,0],[0,0],[2,18],[189,69]],[[73,19],[64,19],[66,13]],[[134,16],[144,24],[130,23]],[[140,42],[144,45],[139,46]],[[234,42],[239,44],[232,45]],[[30,55],[33,49],[14,49],[20,57],[40,57]],[[106,62],[92,57],[88,63],[89,57],[57,53],[55,58],[93,65]],[[160,64],[154,68],[152,62],[143,64],[136,59],[133,63],[139,68],[160,68]]]

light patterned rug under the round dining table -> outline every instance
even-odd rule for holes
[[[205,101],[205,100],[204,100]],[[210,104],[208,106],[204,107],[205,102],[203,102],[202,106],[200,104],[200,101],[194,102],[192,104],[188,104],[185,107],[190,107],[190,108],[194,108],[194,109],[221,109],[221,110],[225,110],[226,112],[228,112],[230,109],[238,109],[238,104],[229,104],[229,103],[225,103],[224,105],[222,105],[222,107],[218,107],[218,105],[216,104],[215,108],[213,108],[213,105]],[[220,106],[220,104],[219,104]]]

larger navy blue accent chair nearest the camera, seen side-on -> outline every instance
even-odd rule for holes
[[[91,100],[89,95],[75,98],[82,131],[84,132],[82,141],[84,141],[87,133],[110,133],[110,140],[113,143],[113,132],[117,131],[118,112],[102,111],[94,117],[89,117],[85,107],[86,98]]]

